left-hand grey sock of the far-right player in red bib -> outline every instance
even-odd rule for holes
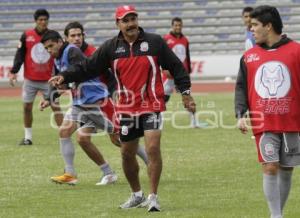
[[[263,174],[263,189],[271,217],[281,217],[278,175]]]

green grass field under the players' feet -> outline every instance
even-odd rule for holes
[[[267,218],[262,193],[261,166],[251,134],[244,136],[235,124],[232,94],[195,96],[200,117],[208,129],[174,128],[189,123],[179,96],[169,111],[178,113],[164,125],[161,149],[163,173],[159,187],[160,213],[145,209],[120,210],[130,194],[119,150],[108,137],[94,142],[119,175],[116,184],[95,186],[98,167],[76,145],[75,166],[79,184],[56,185],[50,176],[63,172],[57,130],[50,127],[50,110],[34,107],[33,146],[17,146],[23,137],[22,103],[0,98],[0,217],[203,217]],[[37,102],[37,101],[36,101]],[[178,106],[179,105],[179,106]],[[171,114],[166,114],[170,118]],[[224,128],[227,126],[227,128]],[[229,127],[231,126],[231,127]],[[146,168],[140,161],[141,183],[148,194]],[[285,218],[299,217],[300,176],[295,170]]]

